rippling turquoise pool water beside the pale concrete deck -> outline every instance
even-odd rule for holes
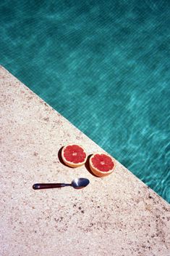
[[[1,65],[170,201],[170,1],[6,0],[0,15]]]

